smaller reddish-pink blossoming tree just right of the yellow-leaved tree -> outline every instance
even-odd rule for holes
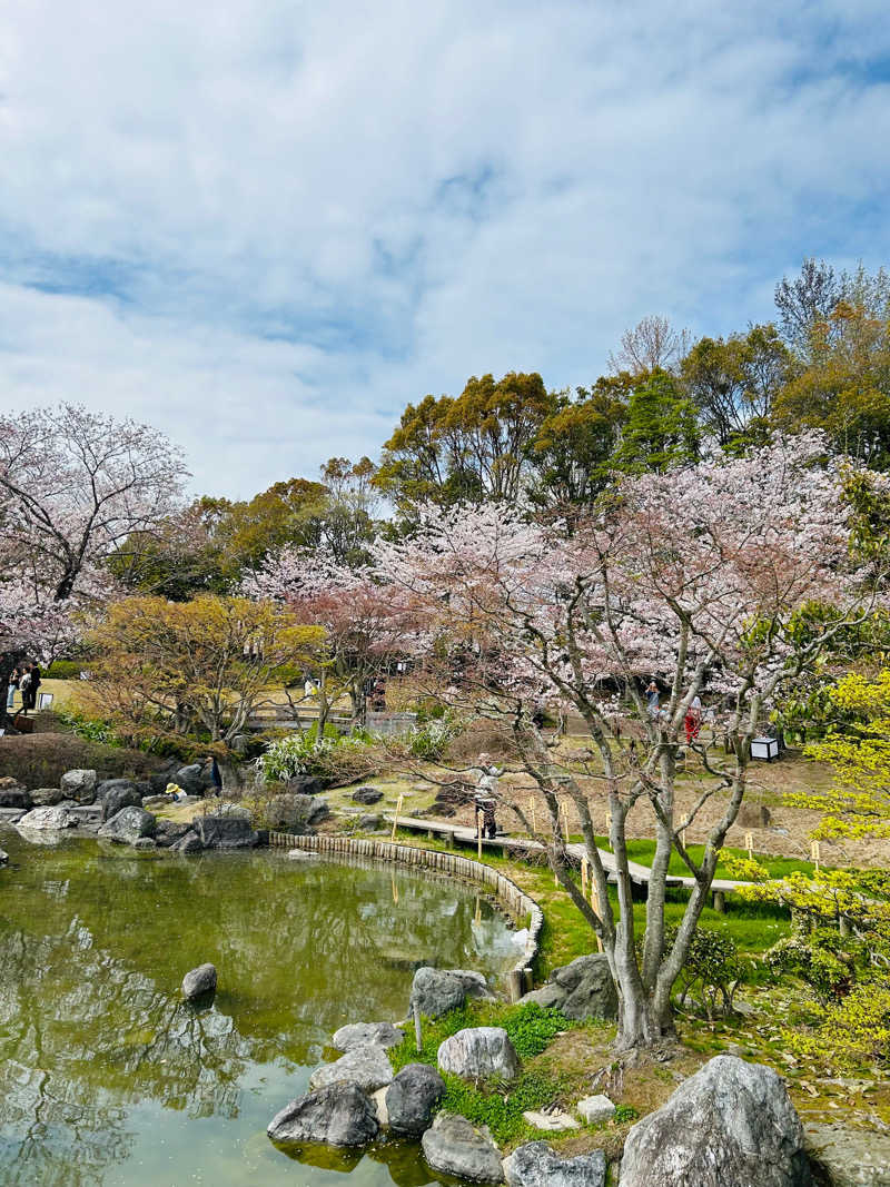
[[[411,627],[407,598],[369,566],[350,569],[325,550],[284,548],[244,584],[254,597],[285,602],[306,626],[324,627],[316,662],[318,737],[331,707],[349,697],[363,723],[368,685],[405,654]]]

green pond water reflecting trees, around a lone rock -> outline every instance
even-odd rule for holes
[[[275,850],[178,858],[9,829],[0,848],[4,1187],[445,1181],[413,1143],[285,1153],[265,1131],[337,1027],[405,1015],[415,963],[515,961],[471,889]],[[195,1010],[179,985],[205,960],[220,990]]]

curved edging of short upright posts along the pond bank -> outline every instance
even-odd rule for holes
[[[538,958],[543,912],[515,882],[497,870],[471,857],[444,853],[413,845],[396,845],[388,840],[354,840],[350,837],[300,837],[287,832],[269,832],[269,845],[287,849],[306,849],[314,853],[333,853],[344,857],[364,857],[377,862],[394,862],[451,875],[463,882],[472,882],[491,890],[515,923],[528,928],[526,951],[510,970],[510,998],[516,1001],[533,985],[533,965]]]

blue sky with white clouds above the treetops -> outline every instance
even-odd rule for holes
[[[0,404],[314,478],[470,375],[890,262],[888,145],[885,0],[5,5]]]

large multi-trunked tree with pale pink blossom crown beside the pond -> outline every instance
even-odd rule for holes
[[[411,598],[422,627],[417,642],[438,696],[507,723],[519,766],[543,795],[551,864],[599,938],[618,989],[622,1049],[673,1036],[672,989],[745,795],[751,738],[773,699],[875,599],[873,573],[851,563],[843,474],[820,462],[820,447],[799,440],[622,480],[571,533],[501,506],[428,508],[412,539],[376,545],[380,575]],[[805,629],[815,605],[820,629]],[[643,693],[653,675],[666,690],[655,713]],[[700,740],[684,747],[699,694],[717,712],[725,753]],[[536,726],[541,704],[567,706],[585,723],[581,769],[560,761]],[[684,749],[697,762],[700,791],[681,808]],[[564,804],[580,823],[592,902],[572,877]],[[642,935],[627,851],[631,815],[635,831],[656,843]],[[596,825],[606,820],[615,908],[596,843]],[[706,830],[700,861],[685,840],[692,826]],[[673,853],[693,882],[669,933]]]

